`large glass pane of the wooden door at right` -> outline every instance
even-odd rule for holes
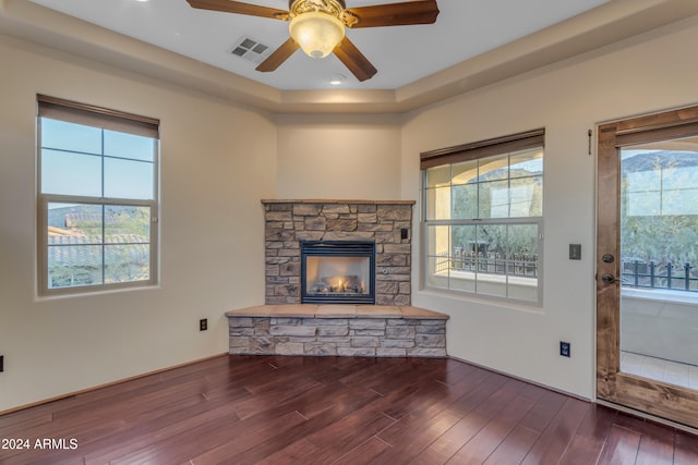
[[[621,148],[621,370],[698,389],[698,138]]]

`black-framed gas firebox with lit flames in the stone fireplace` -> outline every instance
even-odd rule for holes
[[[375,304],[375,244],[301,241],[301,303]]]

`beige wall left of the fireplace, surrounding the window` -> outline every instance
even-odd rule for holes
[[[0,63],[0,412],[225,353],[224,313],[264,299],[260,199],[274,196],[275,124],[11,39]],[[36,297],[37,93],[160,119],[159,287]]]

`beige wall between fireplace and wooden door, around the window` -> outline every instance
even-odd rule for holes
[[[588,155],[587,131],[698,102],[697,42],[694,17],[410,114],[402,127],[402,198],[419,196],[420,151],[545,127],[544,305],[414,293],[414,305],[452,316],[452,356],[594,396],[595,156]],[[581,244],[582,260],[568,259],[568,244]],[[413,259],[419,289],[419,255]],[[571,342],[570,358],[558,355],[561,340]]]

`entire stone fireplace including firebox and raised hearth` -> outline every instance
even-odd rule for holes
[[[265,305],[226,313],[230,354],[447,356],[448,315],[410,302],[413,201],[262,204]]]

